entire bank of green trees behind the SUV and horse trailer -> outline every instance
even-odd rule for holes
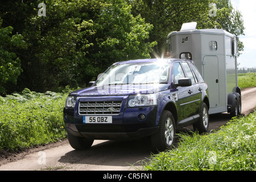
[[[42,2],[46,16],[38,15]],[[209,16],[210,3],[216,4],[216,16]],[[185,22],[238,37],[244,30],[242,15],[229,0],[3,0],[0,16],[1,30],[8,31],[4,36],[16,46],[9,41],[1,47],[8,52],[1,53],[4,67],[14,65],[5,76],[10,80],[1,81],[1,94],[3,88],[10,94],[84,87],[116,61],[160,56],[168,33]],[[242,51],[243,44],[238,47]]]

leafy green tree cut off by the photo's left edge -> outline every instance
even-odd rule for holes
[[[18,48],[25,48],[26,44],[21,35],[10,36],[13,27],[1,28],[1,26],[2,19],[0,17],[0,94],[4,94],[6,84],[16,84],[17,78],[22,72],[20,59],[15,51]]]

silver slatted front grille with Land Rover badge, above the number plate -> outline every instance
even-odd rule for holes
[[[83,101],[79,102],[79,114],[119,114],[122,101]]]

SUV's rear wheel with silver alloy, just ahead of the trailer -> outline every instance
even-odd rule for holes
[[[209,128],[209,111],[207,105],[203,102],[201,107],[200,119],[193,124],[193,129],[198,131],[199,134],[207,133]]]

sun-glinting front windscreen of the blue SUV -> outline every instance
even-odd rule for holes
[[[117,84],[167,84],[167,61],[115,64],[101,75],[94,86]]]

